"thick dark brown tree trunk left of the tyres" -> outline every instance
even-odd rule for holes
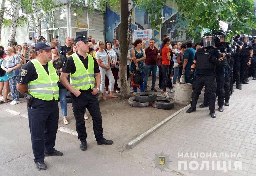
[[[120,26],[120,82],[121,82],[121,98],[122,100],[130,97],[130,88],[126,78],[126,63],[127,63],[127,30],[128,30],[128,0],[121,1],[121,26]]]

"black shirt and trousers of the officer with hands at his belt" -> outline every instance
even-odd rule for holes
[[[84,67],[88,69],[88,58],[85,58],[76,54],[82,61]],[[76,72],[76,66],[73,60],[73,57],[70,56],[66,60],[62,72],[74,74]],[[94,73],[99,73],[100,69],[97,61],[94,59]],[[103,128],[102,128],[102,118],[100,113],[100,107],[98,100],[95,95],[92,95],[92,89],[80,90],[81,95],[76,97],[71,93],[72,107],[74,116],[76,119],[76,131],[78,133],[78,139],[83,142],[86,141],[87,133],[84,122],[84,109],[87,108],[90,115],[92,116],[93,131],[97,141],[100,141],[103,138]]]

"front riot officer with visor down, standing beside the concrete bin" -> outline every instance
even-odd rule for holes
[[[221,53],[219,50],[214,49],[214,36],[210,33],[206,33],[202,36],[203,48],[198,49],[195,54],[195,58],[191,65],[191,70],[189,78],[193,79],[194,70],[196,69],[196,77],[193,81],[193,92],[192,92],[192,102],[191,107],[186,111],[186,113],[191,113],[196,111],[196,104],[201,94],[203,87],[205,86],[205,93],[209,96],[209,110],[212,118],[216,117],[215,114],[215,101],[216,101],[216,76],[215,68],[216,65],[220,64]],[[216,58],[217,56],[217,58]]]

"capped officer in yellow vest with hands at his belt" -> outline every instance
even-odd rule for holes
[[[86,150],[86,128],[84,122],[84,109],[87,108],[92,116],[94,135],[98,145],[111,145],[112,140],[103,138],[102,118],[96,95],[100,91],[100,70],[97,61],[88,54],[89,45],[85,36],[76,36],[75,44],[77,52],[68,57],[65,62],[60,81],[70,91],[74,116],[76,118],[76,131],[81,141],[80,149]],[[70,74],[70,84],[67,80]],[[94,76],[96,75],[97,87],[94,87]]]

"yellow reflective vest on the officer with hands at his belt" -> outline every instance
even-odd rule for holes
[[[76,52],[72,54],[76,71],[74,74],[70,73],[70,85],[72,85],[74,89],[88,90],[90,87],[94,87],[94,60],[90,54],[86,54],[88,56],[87,70]]]

